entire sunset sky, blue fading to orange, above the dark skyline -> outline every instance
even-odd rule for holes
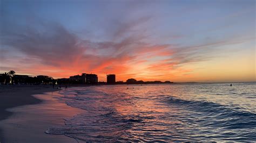
[[[256,81],[254,0],[0,1],[0,73]]]

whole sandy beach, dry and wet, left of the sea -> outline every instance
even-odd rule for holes
[[[59,103],[54,98],[59,96],[57,92],[50,85],[1,86],[0,142],[77,142],[45,133],[48,127],[64,124],[64,118],[79,110]]]

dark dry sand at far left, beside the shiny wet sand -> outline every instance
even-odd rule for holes
[[[58,91],[51,85],[1,85],[0,86],[0,121],[8,120],[14,112],[8,109],[23,105],[42,103],[42,99],[34,97],[35,94]],[[4,135],[0,126],[0,142],[3,142]]]

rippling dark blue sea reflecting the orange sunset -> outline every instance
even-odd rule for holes
[[[148,84],[61,91],[84,113],[46,133],[85,141],[256,141],[256,83]]]

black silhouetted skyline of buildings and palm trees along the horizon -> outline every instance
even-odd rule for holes
[[[82,73],[81,75],[73,75],[69,78],[57,78],[54,79],[50,76],[46,75],[37,75],[37,76],[29,76],[29,75],[17,75],[14,70],[10,70],[7,73],[0,74],[0,83],[3,85],[6,84],[90,84],[90,85],[104,85],[104,84],[163,84],[163,83],[173,83],[171,81],[137,81],[134,78],[129,78],[124,81],[116,81],[116,75],[108,74],[106,75],[106,82],[98,82],[98,75],[96,74],[86,74]]]

